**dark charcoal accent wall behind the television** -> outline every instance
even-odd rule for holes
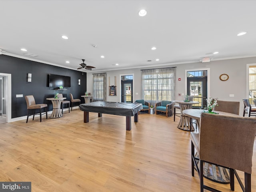
[[[71,87],[65,88],[67,90],[58,90],[58,93],[62,93],[66,100],[70,100],[69,94],[72,93],[74,98],[79,98],[81,103],[84,103],[81,95],[86,91],[86,72],[82,74],[81,71],[2,54],[0,55],[0,73],[12,74],[12,118],[27,115],[26,95],[33,95],[36,104],[46,103],[48,111],[52,110],[52,102],[46,98],[54,97],[56,91],[47,87],[48,74],[70,76]],[[32,82],[27,82],[28,73],[32,74]],[[78,85],[78,79],[81,80],[81,85]],[[16,98],[16,94],[23,94],[23,97]]]

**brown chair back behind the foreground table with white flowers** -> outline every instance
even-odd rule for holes
[[[220,101],[217,100],[217,106],[214,106],[214,111],[222,111],[239,115],[239,101]]]

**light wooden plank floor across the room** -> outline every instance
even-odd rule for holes
[[[36,117],[0,124],[0,181],[30,181],[32,192],[199,192],[190,132],[176,127],[179,118],[140,113],[139,122],[133,120],[131,131],[124,116],[90,113],[85,124],[75,109],[62,118],[42,116],[41,123]],[[229,184],[204,181],[231,191]]]

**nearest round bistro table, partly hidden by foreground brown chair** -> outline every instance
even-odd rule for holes
[[[190,127],[193,125],[191,124],[191,119],[196,120],[196,124],[198,126],[198,129],[200,129],[199,124],[200,124],[200,117],[201,113],[207,111],[204,109],[186,109],[183,110],[183,115],[190,118]],[[237,114],[232,114],[232,113],[227,113],[227,112],[221,112],[221,111],[214,111],[220,115],[226,115],[226,116],[239,116]],[[216,114],[216,115],[218,115]],[[192,129],[192,128],[191,128]],[[199,161],[198,161],[199,163]],[[216,166],[213,164],[209,164],[204,162],[204,177],[208,178],[209,180],[212,180],[214,182],[222,183],[222,184],[228,184],[230,183],[230,175],[229,175],[229,170],[222,167],[222,166]]]

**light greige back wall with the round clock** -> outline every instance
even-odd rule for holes
[[[175,99],[182,100],[182,96],[178,96],[178,93],[185,93],[185,70],[196,70],[202,68],[210,68],[210,95],[209,97],[218,98],[219,100],[239,101],[240,102],[240,115],[243,113],[244,104],[242,98],[247,98],[246,93],[246,64],[256,64],[256,57],[239,58],[218,60],[211,62],[196,62],[187,64],[170,64],[168,66],[159,66],[151,68],[165,68],[176,67],[176,87],[175,87]],[[126,70],[113,70],[104,71],[107,73],[107,87],[108,77],[110,76],[110,85],[114,85],[114,76],[116,76],[117,82],[117,96],[108,96],[107,101],[120,102],[120,74],[134,74],[134,100],[141,99],[141,69],[147,68],[135,68]],[[87,92],[92,92],[92,73],[87,73]],[[99,72],[97,72],[99,73]],[[229,79],[227,81],[221,81],[221,74],[228,74]],[[181,78],[181,81],[178,81]],[[135,93],[138,95],[135,95]],[[234,97],[230,97],[230,94],[234,94]]]

